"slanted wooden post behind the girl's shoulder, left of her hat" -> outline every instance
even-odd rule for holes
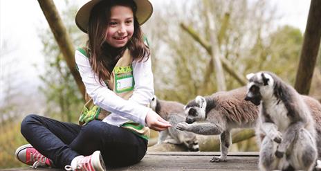
[[[64,60],[66,60],[67,66],[77,83],[78,89],[82,93],[82,97],[84,98],[84,84],[82,83],[82,78],[75,66],[75,48],[73,47],[71,38],[66,31],[66,27],[62,23],[62,19],[59,16],[55,3],[53,3],[53,0],[38,0],[38,2],[42,8],[42,12],[44,12],[44,16],[48,21],[53,35],[55,36],[59,49],[62,51],[62,55],[64,55]]]

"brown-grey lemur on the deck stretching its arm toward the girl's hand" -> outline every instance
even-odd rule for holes
[[[246,91],[246,87],[241,87],[217,92],[211,96],[197,96],[185,106],[186,123],[178,123],[176,126],[178,129],[196,134],[220,135],[221,156],[214,156],[212,162],[226,161],[231,144],[231,129],[256,126],[259,108],[252,102],[244,100]],[[318,100],[309,96],[302,96],[302,98],[309,105],[315,122],[321,123],[321,105]],[[195,121],[203,122],[194,123]],[[321,156],[321,124],[315,126],[320,135],[317,137],[317,142],[319,156]]]

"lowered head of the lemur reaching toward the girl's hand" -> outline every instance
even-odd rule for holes
[[[186,123],[194,123],[198,120],[205,120],[206,100],[201,96],[197,96],[195,100],[187,103],[185,106],[185,114],[187,114]]]

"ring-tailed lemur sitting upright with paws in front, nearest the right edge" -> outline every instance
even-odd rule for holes
[[[274,73],[250,73],[246,100],[259,106],[261,170],[312,170],[318,156],[309,106]]]

